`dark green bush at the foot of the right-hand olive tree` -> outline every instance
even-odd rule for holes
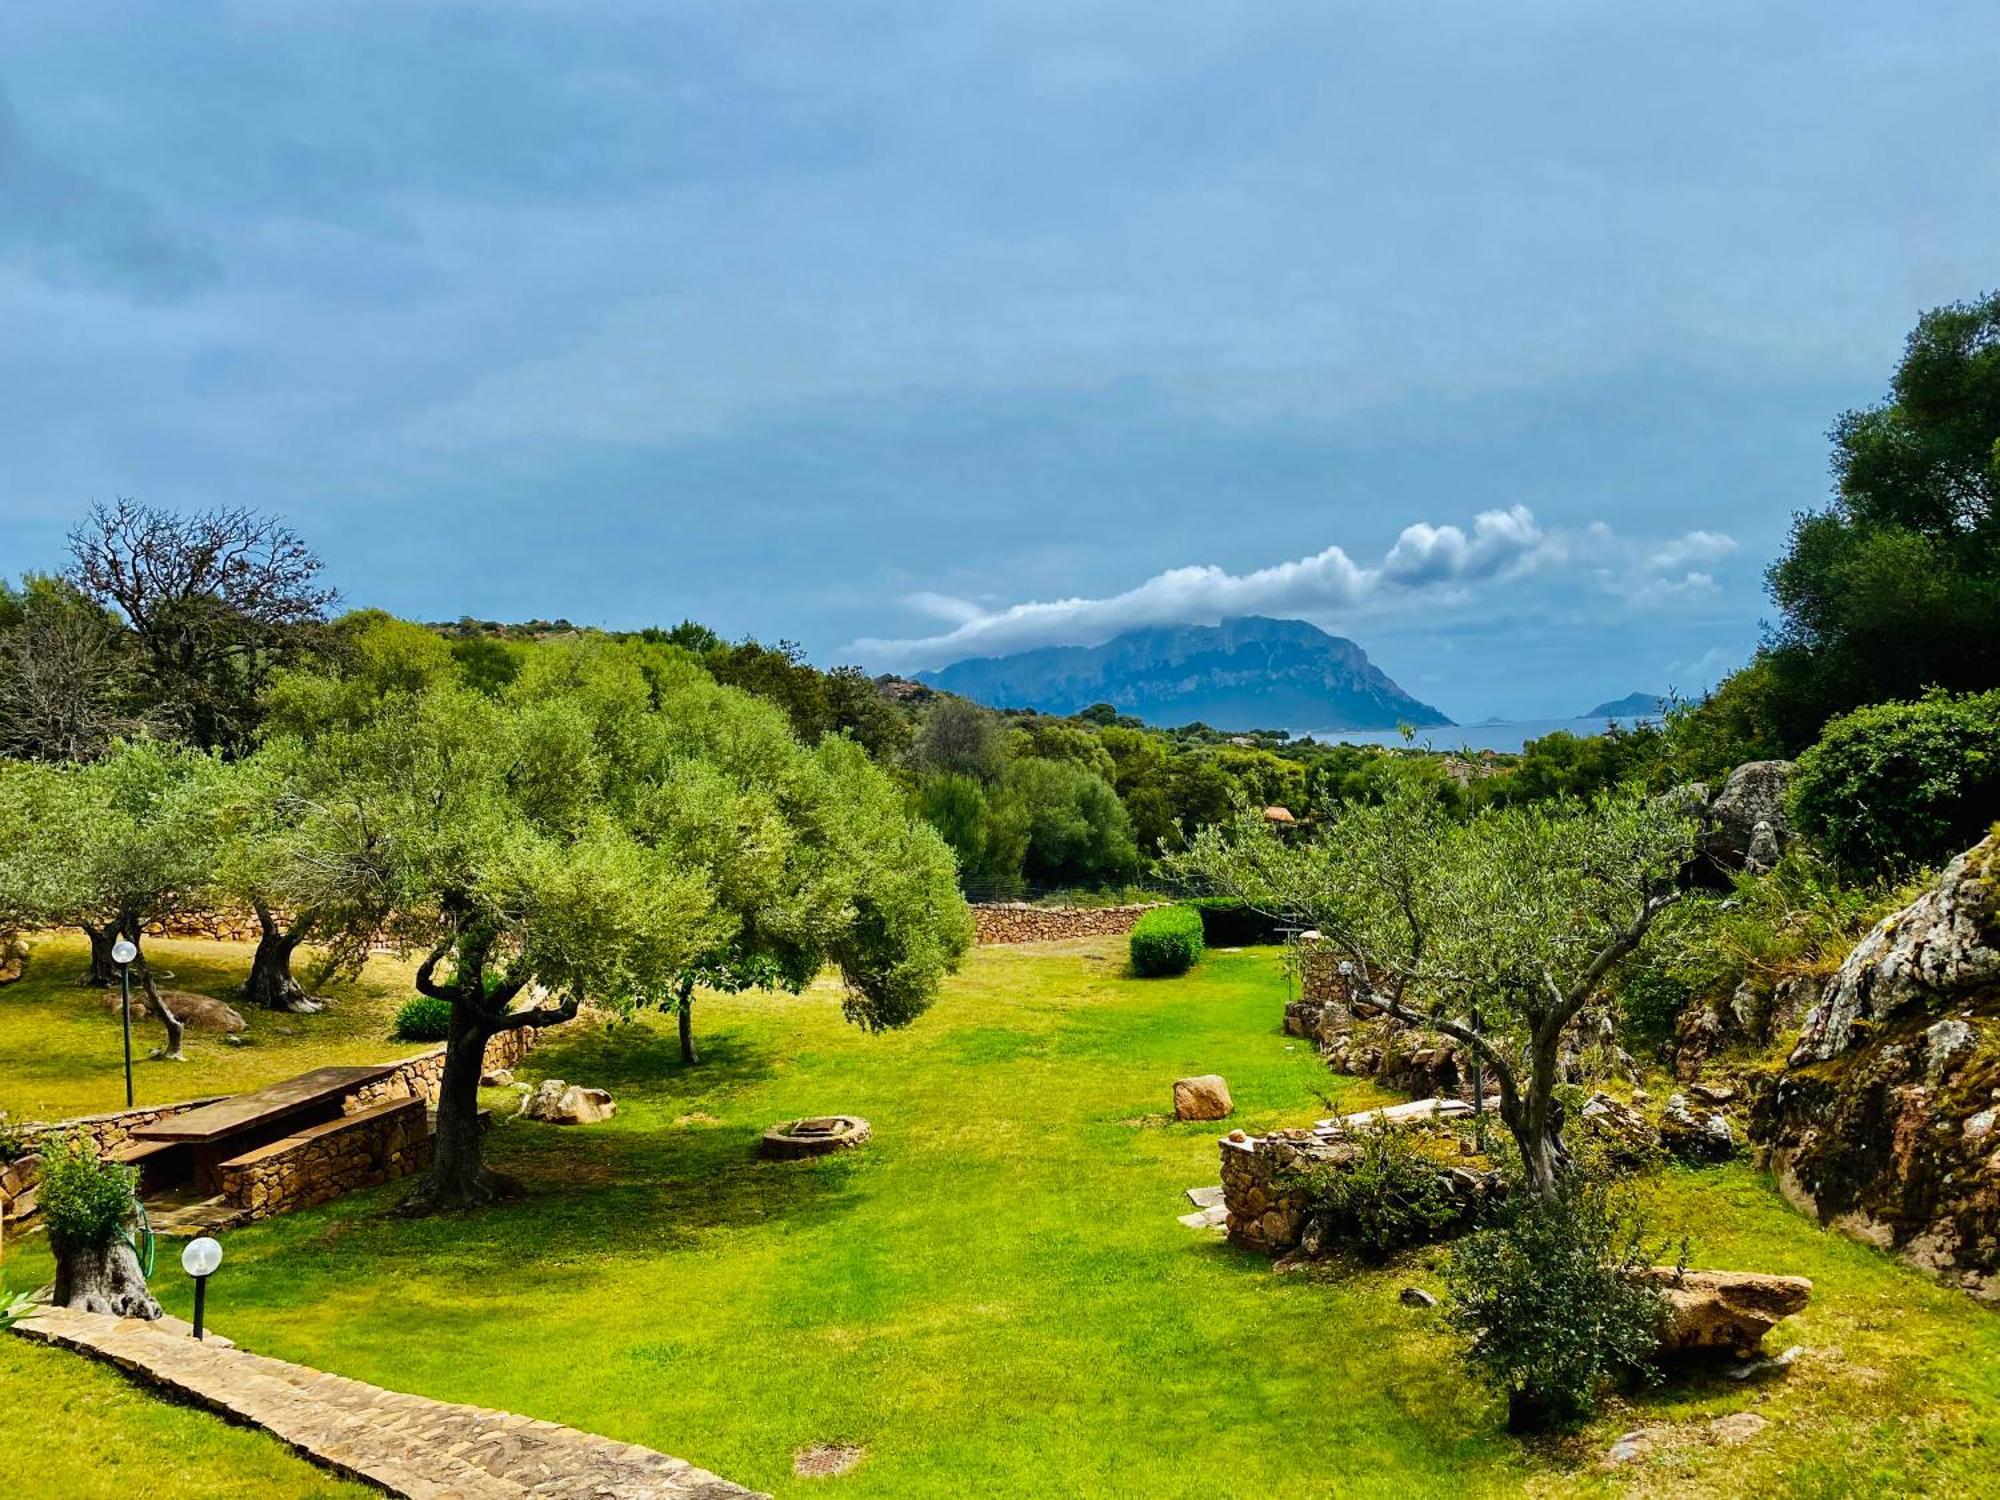
[[[1646,1264],[1636,1214],[1574,1172],[1458,1246],[1448,1318],[1466,1366],[1508,1398],[1510,1428],[1578,1428],[1614,1382],[1658,1378],[1664,1298],[1624,1276]]]

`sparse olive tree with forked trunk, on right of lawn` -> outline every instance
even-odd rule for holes
[[[1562,1032],[1676,900],[1692,840],[1690,820],[1636,792],[1456,820],[1434,778],[1400,776],[1306,842],[1242,818],[1166,864],[1318,928],[1354,1002],[1470,1048],[1498,1084],[1528,1188],[1548,1198],[1568,1164]]]

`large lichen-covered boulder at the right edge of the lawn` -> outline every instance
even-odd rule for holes
[[[2000,836],[1848,954],[1750,1138],[1800,1208],[2000,1302]]]

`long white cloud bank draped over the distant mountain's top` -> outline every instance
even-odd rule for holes
[[[1546,530],[1532,510],[1510,506],[1480,512],[1470,528],[1412,522],[1374,564],[1360,564],[1344,548],[1328,546],[1308,558],[1244,574],[1214,564],[1168,568],[1122,594],[1004,608],[918,592],[904,602],[948,622],[950,630],[856,640],[848,652],[876,666],[912,670],[1036,646],[1094,646],[1138,626],[1214,624],[1238,614],[1330,626],[1356,616],[1468,606],[1530,576],[1608,596],[1622,606],[1656,608],[1714,594],[1714,576],[1688,564],[1722,558],[1734,546],[1734,538],[1720,532],[1638,542],[1602,522],[1580,532]]]

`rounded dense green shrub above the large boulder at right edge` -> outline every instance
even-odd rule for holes
[[[1874,704],[1832,720],[1798,758],[1792,818],[1850,870],[1944,864],[2000,818],[2000,692]]]

